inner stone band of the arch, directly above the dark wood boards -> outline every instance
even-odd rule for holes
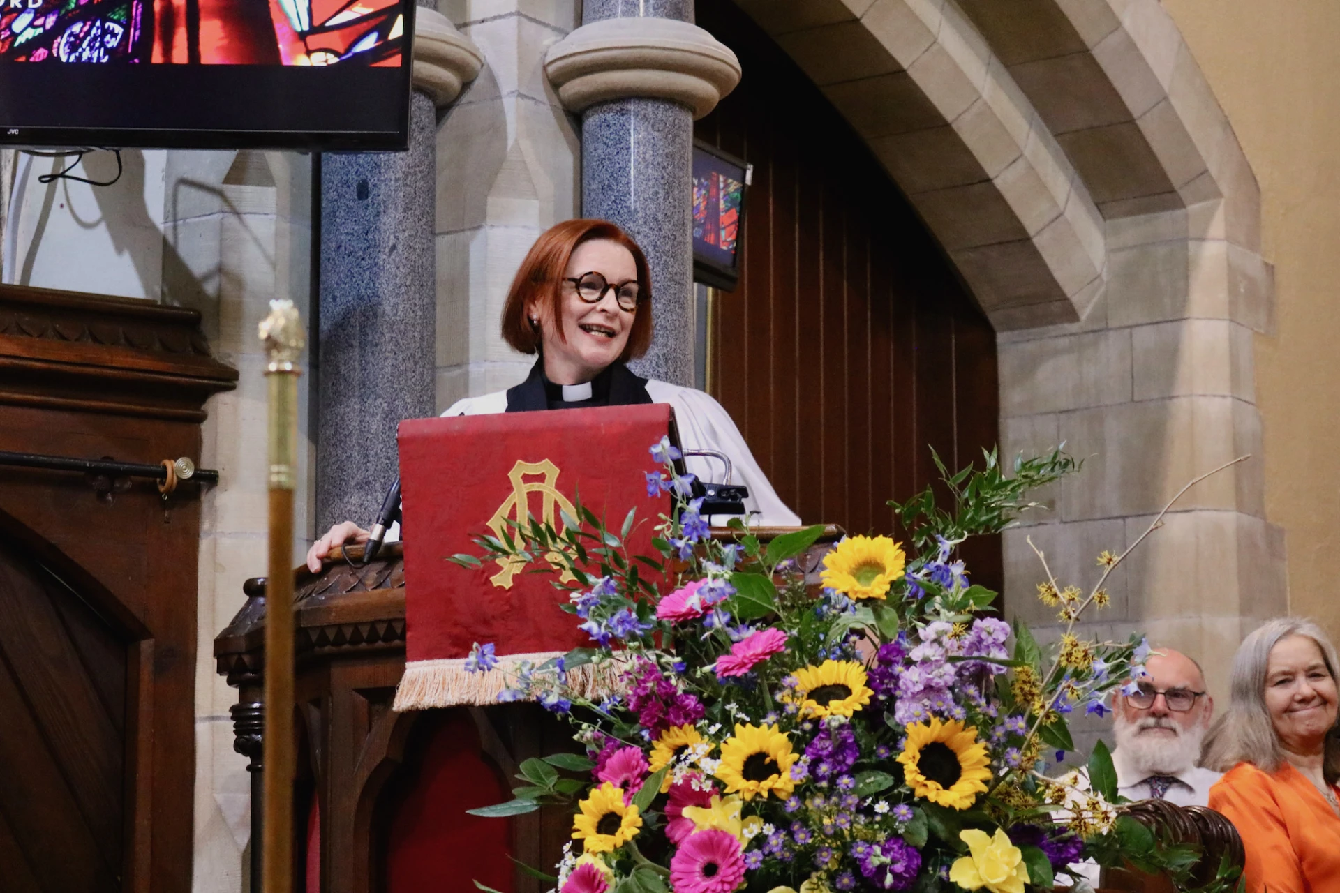
[[[1103,218],[1045,122],[946,0],[742,0],[907,193],[997,331],[1081,319]]]

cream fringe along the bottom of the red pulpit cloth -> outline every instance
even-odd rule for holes
[[[507,688],[516,687],[517,671],[523,660],[531,667],[561,657],[565,652],[543,651],[531,655],[498,656],[498,665],[486,672],[465,672],[465,659],[414,660],[405,664],[405,675],[395,688],[395,704],[391,710],[429,710],[431,707],[458,707],[472,704],[484,707],[498,703],[498,696]],[[623,660],[615,657],[600,664],[584,664],[567,672],[564,694],[590,700],[623,694]],[[543,676],[541,676],[543,677]],[[551,676],[552,677],[552,676]],[[536,700],[525,696],[519,700]]]

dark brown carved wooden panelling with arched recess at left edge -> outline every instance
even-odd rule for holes
[[[198,463],[236,379],[194,311],[0,287],[0,450]],[[190,889],[200,490],[0,470],[0,889]]]

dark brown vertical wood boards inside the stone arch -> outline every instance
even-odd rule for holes
[[[695,135],[753,163],[740,287],[718,293],[713,395],[805,522],[894,527],[890,498],[997,439],[996,336],[925,225],[823,94],[730,3],[698,24],[744,79]],[[1000,542],[972,544],[1000,585]]]

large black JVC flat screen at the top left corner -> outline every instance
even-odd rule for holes
[[[0,145],[395,150],[413,0],[0,0]]]

